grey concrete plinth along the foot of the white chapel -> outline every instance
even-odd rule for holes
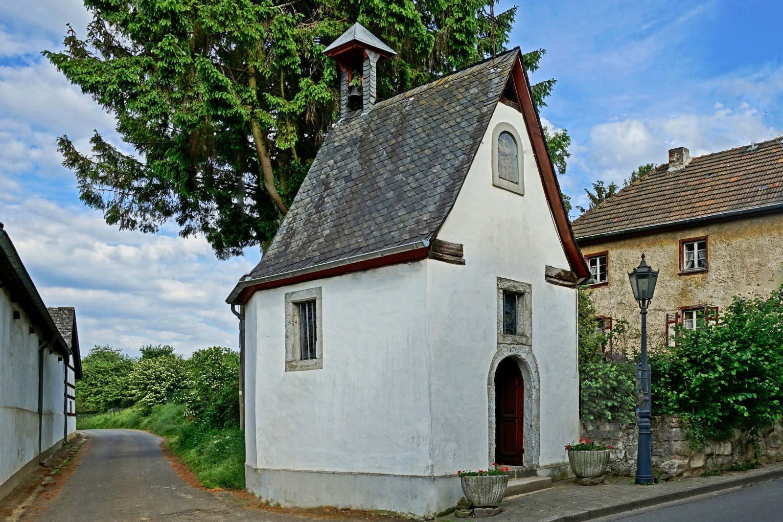
[[[417,518],[451,509],[462,496],[456,476],[269,470],[248,464],[245,484],[263,502],[283,507],[368,509]]]

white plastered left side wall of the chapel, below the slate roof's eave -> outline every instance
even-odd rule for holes
[[[323,369],[285,371],[285,293],[321,287]],[[270,470],[431,473],[424,263],[254,294],[245,308],[247,463]]]

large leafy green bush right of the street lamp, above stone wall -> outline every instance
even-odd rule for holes
[[[783,415],[783,287],[734,297],[718,324],[678,328],[650,362],[653,411],[685,416],[695,444],[770,426]]]

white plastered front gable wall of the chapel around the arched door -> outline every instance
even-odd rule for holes
[[[501,122],[512,124],[521,137],[524,196],[493,186],[492,135]],[[497,106],[438,238],[463,244],[466,264],[428,261],[435,474],[484,469],[492,462],[488,384],[493,383],[493,359],[496,366],[502,357],[498,277],[532,286],[532,346],[502,347],[503,354],[521,354],[529,371],[538,372],[539,390],[529,389],[536,379],[525,380],[525,408],[538,409],[525,412],[532,424],[525,427],[525,465],[565,463],[563,447],[579,437],[576,290],[544,279],[546,265],[569,265],[517,110]],[[536,453],[537,462],[532,462]]]

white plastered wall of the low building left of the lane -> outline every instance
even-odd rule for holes
[[[20,319],[13,319],[13,311]],[[38,458],[38,335],[24,311],[0,290],[0,498]],[[44,351],[43,437],[46,452],[63,440],[63,362]],[[33,464],[34,466],[34,464]],[[5,485],[5,487],[4,487]]]

